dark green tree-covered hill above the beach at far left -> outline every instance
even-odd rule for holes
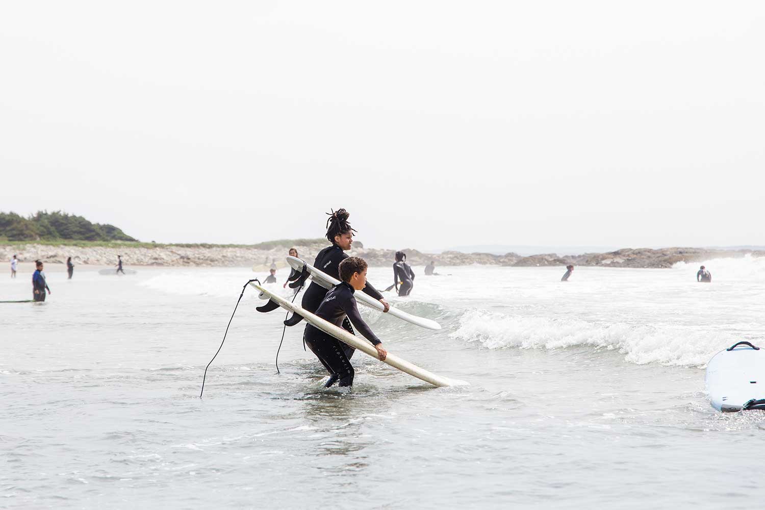
[[[60,211],[38,211],[28,218],[16,213],[0,213],[0,239],[8,242],[136,242],[116,226],[90,223],[82,216]]]

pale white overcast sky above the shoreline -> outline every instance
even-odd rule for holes
[[[765,245],[765,2],[5,2],[0,210],[143,241]]]

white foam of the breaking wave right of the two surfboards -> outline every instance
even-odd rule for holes
[[[572,346],[617,349],[625,355],[625,360],[638,365],[656,362],[685,366],[705,365],[715,352],[737,341],[737,337],[729,333],[545,317],[509,317],[485,310],[467,311],[451,336],[480,343],[489,349],[565,349]]]

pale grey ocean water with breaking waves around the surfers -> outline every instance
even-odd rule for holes
[[[391,352],[470,385],[357,352],[350,394],[321,388],[302,326],[277,373],[284,313],[257,313],[250,288],[203,398],[252,271],[47,268],[45,304],[0,304],[0,508],[760,508],[765,413],[712,409],[704,365],[765,343],[765,260],[706,265],[712,284],[682,264],[567,283],[415,268],[390,301],[443,330],[363,315]],[[28,298],[30,278],[0,299]]]

